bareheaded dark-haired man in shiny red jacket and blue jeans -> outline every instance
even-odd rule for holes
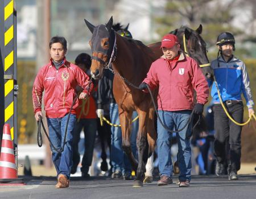
[[[44,91],[44,110],[46,110],[49,138],[57,150],[60,150],[63,146],[68,113],[76,96],[76,86],[79,85],[84,89],[79,96],[80,99],[89,96],[93,89],[89,77],[79,67],[65,59],[66,52],[67,41],[65,38],[53,37],[49,42],[51,61],[38,72],[32,90],[36,121],[39,121],[39,115],[42,117],[41,106]],[[58,179],[56,188],[67,188],[69,186],[72,167],[73,127],[76,122],[76,107],[78,105],[79,102],[76,100],[68,122],[64,151],[58,153],[51,146],[52,161]]]

